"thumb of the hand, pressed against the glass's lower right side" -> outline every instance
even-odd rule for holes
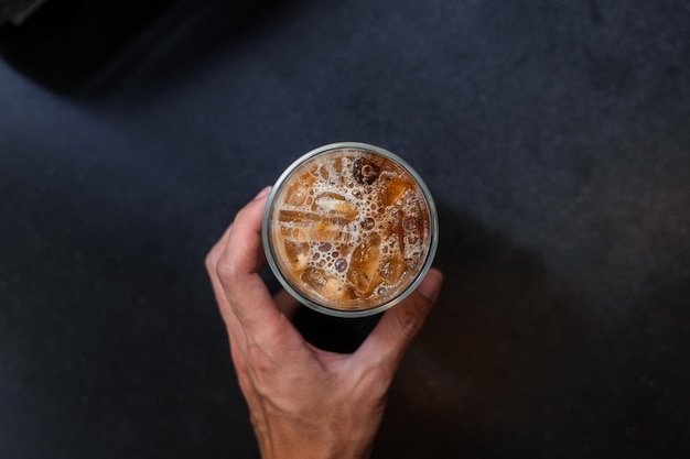
[[[417,291],[384,314],[357,349],[356,358],[365,364],[389,367],[392,376],[408,346],[424,325],[442,282],[441,271],[432,267]]]

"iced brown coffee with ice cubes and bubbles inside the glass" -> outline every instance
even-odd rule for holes
[[[308,160],[272,205],[277,264],[297,291],[331,308],[368,309],[396,298],[422,269],[430,238],[414,178],[367,150]]]

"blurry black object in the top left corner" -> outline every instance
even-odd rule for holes
[[[177,63],[207,53],[290,2],[277,0],[51,0],[20,24],[0,26],[0,56],[56,92],[108,94],[165,50]],[[211,19],[211,26],[200,23]],[[175,36],[194,30],[192,42]],[[163,53],[164,54],[164,53]],[[170,69],[168,69],[170,70]]]

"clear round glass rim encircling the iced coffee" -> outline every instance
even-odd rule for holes
[[[283,183],[288,179],[288,177],[290,177],[290,175],[308,160],[319,154],[328,152],[331,150],[343,150],[343,149],[357,149],[357,150],[371,151],[374,153],[378,153],[398,163],[408,174],[410,174],[414,178],[414,181],[419,185],[420,189],[422,190],[422,195],[424,196],[424,200],[427,203],[427,207],[430,214],[429,220],[430,220],[431,242],[429,244],[429,251],[427,252],[427,258],[424,260],[424,264],[422,265],[421,270],[419,271],[417,276],[414,276],[414,280],[396,297],[391,298],[387,303],[384,303],[379,306],[375,306],[375,307],[367,308],[367,309],[355,309],[355,310],[335,309],[335,308],[319,304],[312,300],[311,298],[308,298],[306,296],[304,296],[298,288],[295,288],[290,283],[290,281],[288,281],[288,278],[283,275],[282,271],[280,270],[280,266],[278,266],[278,263],[276,262],[276,258],[273,256],[273,250],[272,250],[272,245],[271,245],[271,241],[269,237],[269,222],[271,219],[272,204],[273,204],[273,200],[276,199],[276,196],[280,192],[280,188],[282,187]],[[288,166],[288,168],[285,168],[283,173],[278,177],[278,179],[276,181],[276,184],[273,185],[273,188],[271,189],[271,193],[268,196],[268,200],[266,203],[266,209],[263,210],[263,220],[261,225],[261,239],[263,242],[263,251],[266,252],[266,259],[268,261],[268,264],[271,271],[273,272],[273,275],[276,276],[276,278],[278,278],[278,282],[281,284],[281,286],[290,295],[297,298],[301,304],[319,313],[326,314],[328,316],[351,317],[351,318],[367,317],[367,316],[374,316],[376,314],[382,313],[400,304],[400,302],[402,302],[412,292],[414,292],[414,289],[417,289],[419,284],[422,282],[422,280],[424,278],[424,276],[427,275],[427,273],[429,272],[429,270],[431,269],[433,264],[433,260],[436,253],[436,248],[439,245],[439,214],[438,214],[433,197],[431,196],[431,192],[429,190],[429,187],[427,186],[422,177],[417,173],[417,171],[414,171],[412,166],[410,166],[410,164],[408,164],[400,156],[398,156],[395,153],[389,152],[388,150],[381,149],[380,146],[371,145],[368,143],[337,142],[337,143],[330,143],[326,145],[319,146],[303,154],[302,156],[298,157],[292,164],[290,164],[290,166]]]

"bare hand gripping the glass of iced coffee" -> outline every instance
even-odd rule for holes
[[[432,269],[417,292],[386,312],[356,352],[317,349],[290,323],[298,302],[284,291],[272,298],[258,274],[266,263],[261,217],[269,190],[239,211],[206,258],[261,457],[366,458],[441,273]]]

